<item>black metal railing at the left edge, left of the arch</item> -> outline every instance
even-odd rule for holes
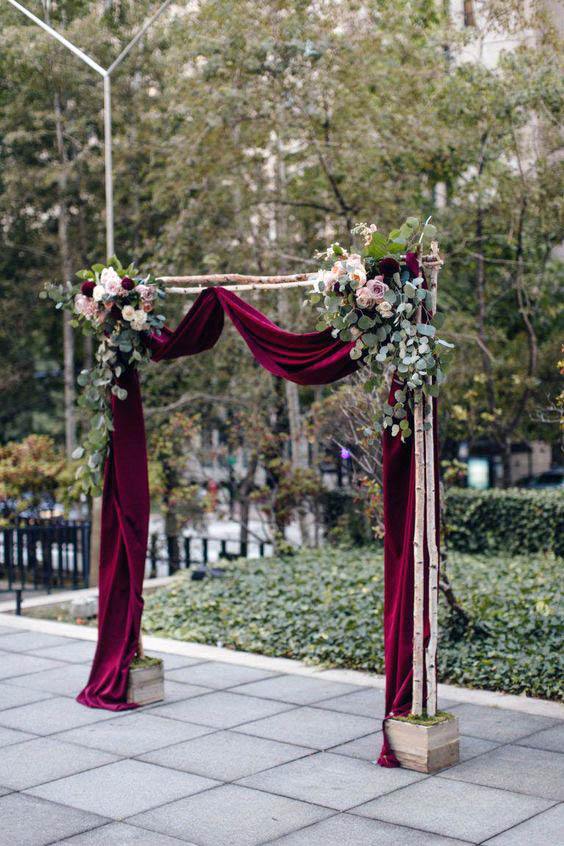
[[[90,523],[27,523],[0,530],[0,592],[88,587]]]

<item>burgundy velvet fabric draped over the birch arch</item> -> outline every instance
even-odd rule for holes
[[[411,268],[410,268],[411,269]],[[414,267],[412,272],[416,273]],[[218,341],[227,315],[257,362],[302,385],[334,382],[357,369],[351,344],[330,330],[294,334],[223,288],[205,290],[173,332],[152,339],[153,359],[195,355]],[[100,548],[98,646],[78,701],[123,710],[127,674],[143,609],[142,585],[149,524],[149,487],[141,394],[136,373],[123,377],[126,400],[113,400],[114,432],[105,468]],[[392,386],[392,391],[399,384]],[[414,464],[412,442],[384,435],[386,713],[411,704]],[[387,743],[380,763],[395,766]]]

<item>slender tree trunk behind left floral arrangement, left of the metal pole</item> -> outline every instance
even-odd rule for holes
[[[72,279],[72,260],[69,246],[69,212],[68,212],[68,158],[64,142],[63,110],[59,94],[55,94],[55,134],[57,139],[57,153],[59,156],[58,200],[59,218],[58,235],[61,254],[61,274],[63,282]],[[63,312],[63,381],[64,381],[64,410],[65,410],[65,449],[70,458],[76,446],[76,409],[74,385],[74,333],[71,326],[71,315]]]

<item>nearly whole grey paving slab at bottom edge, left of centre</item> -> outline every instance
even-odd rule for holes
[[[331,813],[295,799],[226,784],[131,822],[193,840],[198,846],[258,846]]]

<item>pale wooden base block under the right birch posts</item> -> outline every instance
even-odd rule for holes
[[[452,714],[430,726],[389,719],[386,736],[401,766],[408,770],[436,773],[458,763],[458,718]]]

